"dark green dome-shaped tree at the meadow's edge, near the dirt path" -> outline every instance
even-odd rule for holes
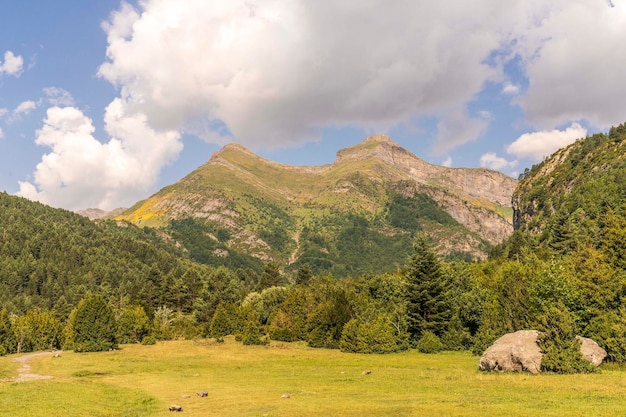
[[[77,352],[100,352],[117,348],[115,315],[100,295],[90,295],[76,307],[73,342]]]

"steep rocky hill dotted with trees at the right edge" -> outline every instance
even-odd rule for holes
[[[581,138],[526,170],[513,205],[526,243],[560,253],[606,247],[626,228],[626,124]]]

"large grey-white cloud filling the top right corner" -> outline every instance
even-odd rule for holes
[[[535,126],[585,119],[606,128],[624,121],[626,54],[616,51],[624,49],[626,1],[613,4],[546,2],[549,10],[518,35],[516,52],[529,80],[519,103]]]

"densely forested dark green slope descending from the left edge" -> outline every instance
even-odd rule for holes
[[[171,294],[168,280],[190,269],[208,270],[153,229],[0,193],[0,304],[9,311],[68,314],[88,292],[153,311]]]

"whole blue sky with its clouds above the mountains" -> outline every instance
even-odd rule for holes
[[[129,207],[240,143],[517,177],[626,121],[626,0],[0,3],[0,191]]]

